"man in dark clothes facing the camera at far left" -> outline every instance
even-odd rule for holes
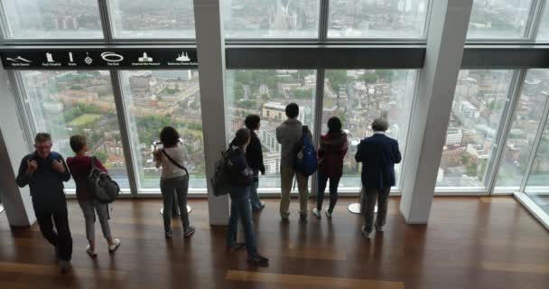
[[[67,273],[72,256],[67,200],[63,182],[70,172],[63,157],[51,152],[51,136],[40,133],[34,138],[36,151],[23,157],[15,182],[21,188],[29,185],[33,209],[42,235],[55,247],[61,273]],[[53,220],[53,221],[52,221]],[[53,230],[53,223],[57,232]]]

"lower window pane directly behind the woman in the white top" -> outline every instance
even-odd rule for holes
[[[181,136],[184,165],[191,176],[189,189],[205,189],[198,71],[122,71],[120,79],[140,191],[159,190],[161,171],[154,166],[153,150],[163,126],[175,127]]]

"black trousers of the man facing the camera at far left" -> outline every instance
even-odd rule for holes
[[[67,202],[56,206],[44,206],[33,202],[34,212],[38,225],[42,231],[42,236],[57,247],[57,257],[63,261],[70,261],[72,257],[72,237],[70,237],[69,212],[67,211]],[[53,230],[55,224],[55,230]]]

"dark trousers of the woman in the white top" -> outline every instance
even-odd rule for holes
[[[183,229],[189,228],[189,212],[187,211],[187,193],[189,191],[189,176],[162,179],[160,181],[160,191],[162,191],[163,200],[163,220],[164,231],[172,231],[172,208],[174,199],[177,199],[177,205],[181,213],[181,224]],[[175,197],[177,195],[177,197]]]

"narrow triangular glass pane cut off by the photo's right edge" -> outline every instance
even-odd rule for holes
[[[535,154],[534,166],[526,182],[526,194],[549,213],[549,125],[545,125],[544,135]]]

